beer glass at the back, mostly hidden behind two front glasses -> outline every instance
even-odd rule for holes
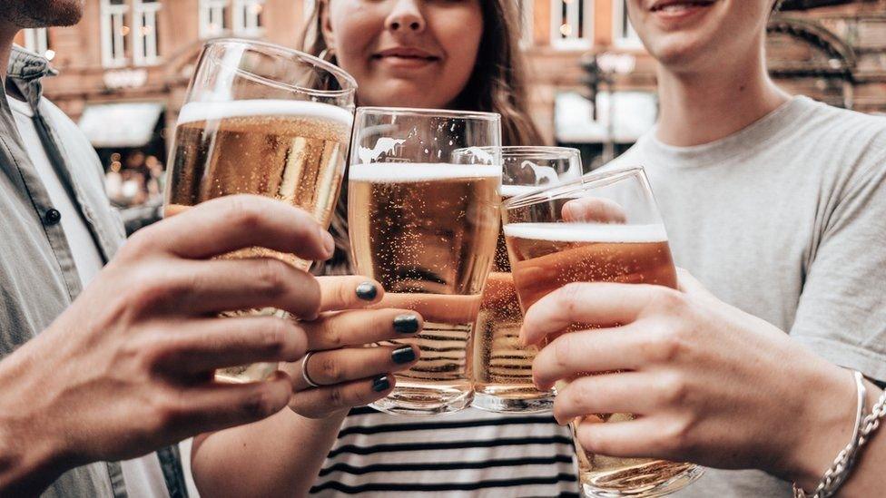
[[[502,147],[501,197],[552,187],[581,178],[581,154],[566,147]],[[540,413],[554,404],[553,391],[532,382],[537,347],[520,345],[523,312],[517,302],[505,235],[498,232],[496,257],[487,279],[473,337],[474,401],[497,413]]]

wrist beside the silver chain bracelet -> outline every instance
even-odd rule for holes
[[[804,386],[802,404],[779,474],[810,491],[854,437],[858,394],[850,370],[824,362],[797,380],[798,386]]]

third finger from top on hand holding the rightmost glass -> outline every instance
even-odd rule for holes
[[[578,377],[557,388],[554,418],[566,424],[588,414],[646,414],[655,407],[649,386],[649,376],[638,372]]]

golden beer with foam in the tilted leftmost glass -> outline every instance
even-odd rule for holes
[[[165,216],[232,194],[255,194],[306,210],[329,226],[338,198],[353,117],[326,103],[246,100],[187,103],[172,147]],[[271,257],[307,270],[310,261],[271,249],[241,249],[224,258]],[[225,316],[277,314],[231,311]],[[221,369],[231,382],[260,380],[276,366]]]

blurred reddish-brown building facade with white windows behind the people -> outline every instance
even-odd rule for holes
[[[632,143],[655,121],[655,61],[625,0],[511,0],[522,14],[533,116],[550,142],[588,158]],[[111,172],[150,172],[202,43],[239,36],[293,45],[312,0],[86,0],[72,27],[25,30],[18,42],[60,74],[45,93],[80,122]],[[886,0],[787,0],[770,24],[769,65],[792,93],[886,112]],[[596,76],[582,67],[598,54]],[[600,84],[588,99],[589,77]],[[150,176],[150,175],[148,175]],[[130,187],[130,190],[132,188]],[[147,190],[147,187],[145,187]]]

